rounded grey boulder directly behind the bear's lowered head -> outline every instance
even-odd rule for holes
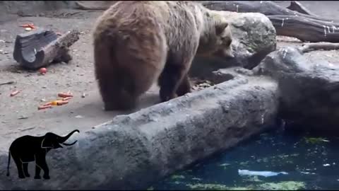
[[[235,13],[222,11],[231,23],[234,59],[196,57],[191,76],[210,76],[212,71],[230,66],[252,69],[276,47],[275,28],[261,13]]]

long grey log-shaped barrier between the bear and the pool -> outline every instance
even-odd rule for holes
[[[191,163],[235,146],[272,127],[278,84],[266,77],[235,76],[202,91],[73,134],[47,154],[49,180],[19,179],[8,151],[0,151],[1,190],[145,189]],[[73,129],[70,129],[70,132]],[[43,174],[42,174],[43,175]],[[41,175],[41,176],[42,176]]]

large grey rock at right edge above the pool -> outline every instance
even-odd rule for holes
[[[253,71],[278,81],[280,117],[287,120],[287,126],[339,132],[338,64],[285,47],[268,54]]]

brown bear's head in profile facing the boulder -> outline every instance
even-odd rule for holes
[[[202,57],[234,57],[230,24],[218,11],[211,11],[206,19],[197,55]]]

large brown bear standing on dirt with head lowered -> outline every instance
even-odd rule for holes
[[[233,57],[219,11],[193,1],[118,1],[93,31],[95,78],[105,110],[131,110],[157,81],[162,102],[191,92],[196,54]]]

